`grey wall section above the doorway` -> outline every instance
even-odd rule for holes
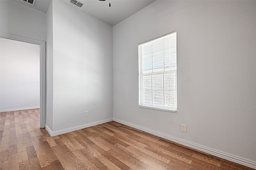
[[[46,14],[11,0],[0,0],[0,31],[46,40]]]

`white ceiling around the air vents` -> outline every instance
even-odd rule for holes
[[[47,12],[51,0],[36,0],[35,5],[28,4],[22,0],[13,0],[25,6],[40,10],[44,13]],[[155,0],[79,0],[84,4],[82,8],[71,4],[68,0],[60,0],[61,2],[72,6],[82,12],[97,18],[109,25],[116,25],[129,16],[132,16],[142,8],[148,6]],[[111,3],[111,7],[109,7]]]

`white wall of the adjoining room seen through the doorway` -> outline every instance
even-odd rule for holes
[[[39,108],[40,46],[0,38],[0,111]]]

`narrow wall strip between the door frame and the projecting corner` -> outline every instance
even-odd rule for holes
[[[46,125],[52,130],[53,123],[53,27],[52,2],[46,12]]]

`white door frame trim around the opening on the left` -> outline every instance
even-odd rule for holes
[[[40,128],[46,124],[46,48],[45,41],[0,32],[0,37],[40,45]]]

